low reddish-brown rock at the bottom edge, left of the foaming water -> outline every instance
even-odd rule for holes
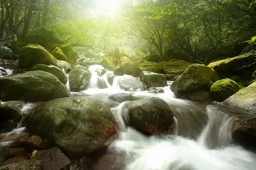
[[[92,167],[94,170],[122,170],[125,167],[125,158],[114,154],[104,155],[98,158]]]

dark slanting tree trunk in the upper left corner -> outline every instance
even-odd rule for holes
[[[28,28],[30,27],[30,20],[32,18],[32,12],[35,10],[35,0],[31,1],[30,7],[27,9],[26,18],[24,19],[24,27],[22,31],[22,35],[20,36],[20,40],[24,41],[27,37]]]

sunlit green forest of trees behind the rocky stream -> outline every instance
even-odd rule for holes
[[[255,10],[253,0],[2,0],[0,29],[15,24],[25,41],[44,27],[82,51],[182,51],[199,59],[221,46],[245,48],[239,45],[256,35]]]

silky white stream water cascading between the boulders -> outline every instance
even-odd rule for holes
[[[100,66],[91,66],[92,79],[89,88],[72,92],[73,96],[86,95],[107,103],[118,121],[118,135],[108,148],[108,153],[125,158],[123,169],[127,170],[165,170],[165,169],[255,169],[256,153],[235,145],[231,137],[231,125],[239,114],[220,103],[196,102],[177,99],[164,87],[164,93],[151,94],[147,91],[121,90],[117,79],[113,86],[106,81],[106,74],[96,73]],[[95,78],[97,76],[97,78]],[[123,75],[124,77],[127,75]],[[98,77],[105,80],[106,88],[97,88]],[[160,97],[174,112],[174,133],[172,135],[144,135],[125,124],[122,118],[123,105],[108,99],[109,95],[126,93],[135,99]],[[27,108],[34,105],[27,104]],[[26,111],[26,107],[23,107]],[[254,115],[248,114],[248,117]],[[1,148],[10,145],[2,143]]]

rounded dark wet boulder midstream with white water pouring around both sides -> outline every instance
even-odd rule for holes
[[[129,101],[124,106],[123,118],[144,134],[171,134],[174,130],[174,113],[158,97]]]

